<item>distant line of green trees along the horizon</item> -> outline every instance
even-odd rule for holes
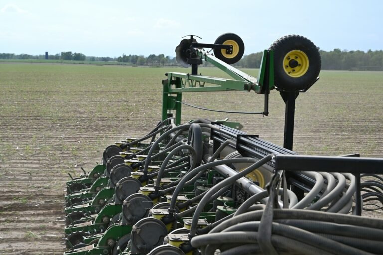
[[[347,51],[334,49],[332,51],[319,50],[322,59],[323,70],[383,70],[383,51],[368,50],[367,52],[356,50]],[[259,68],[263,52],[245,55],[234,64],[238,68]],[[0,59],[45,59],[45,55],[28,55],[13,53],[0,53]],[[71,51],[49,55],[48,59],[75,60],[75,61],[104,61],[129,64],[133,66],[179,66],[175,57],[164,54],[125,55],[119,57],[94,57],[85,56],[82,53]]]

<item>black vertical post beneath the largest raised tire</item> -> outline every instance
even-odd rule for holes
[[[289,150],[293,150],[295,99],[298,97],[299,92],[281,91],[280,94],[286,104],[283,147]]]

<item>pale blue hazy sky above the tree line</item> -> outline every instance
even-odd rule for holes
[[[289,34],[326,51],[382,50],[383,0],[0,0],[0,53],[175,56],[185,35],[227,32],[246,55]]]

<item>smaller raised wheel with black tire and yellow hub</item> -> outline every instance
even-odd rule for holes
[[[222,51],[225,52],[225,50],[214,49],[215,57],[219,58],[220,60],[226,62],[229,65],[241,60],[243,53],[245,52],[245,44],[243,43],[241,37],[233,33],[226,33],[220,35],[214,42],[215,44],[227,45],[231,44],[230,40],[235,42],[235,45],[233,45],[233,53],[231,55],[222,53]]]

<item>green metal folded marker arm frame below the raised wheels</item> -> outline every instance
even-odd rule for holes
[[[218,67],[233,79],[210,77],[204,75],[189,75],[179,72],[168,72],[167,79],[163,80],[163,106],[162,119],[175,112],[176,125],[181,124],[181,101],[183,92],[212,92],[212,91],[250,91],[265,95],[265,111],[268,114],[268,94],[274,89],[274,61],[273,51],[263,52],[258,78],[252,77],[213,55],[196,49],[198,55],[206,62]],[[205,86],[205,84],[209,84]],[[266,105],[267,103],[267,105]]]

